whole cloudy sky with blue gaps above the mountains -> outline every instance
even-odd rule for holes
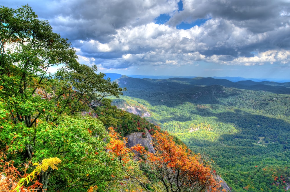
[[[290,0],[0,0],[24,4],[102,73],[290,79]]]

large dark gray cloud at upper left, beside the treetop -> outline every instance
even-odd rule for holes
[[[56,2],[56,1],[54,1]],[[50,23],[70,40],[109,41],[116,29],[153,21],[160,13],[172,12],[174,1],[84,0],[60,1],[50,6]],[[51,15],[54,15],[52,16]]]

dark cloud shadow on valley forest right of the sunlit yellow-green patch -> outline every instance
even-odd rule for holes
[[[214,141],[207,140],[210,137],[205,139],[199,134],[190,136],[186,133],[184,138],[187,139],[187,142],[185,143],[196,153],[205,152],[211,155],[220,167],[231,168],[238,165],[237,169],[241,169],[240,166],[243,165],[253,165],[253,162],[261,166],[263,166],[261,162],[265,163],[265,161],[267,161],[267,165],[270,162],[277,163],[278,161],[289,163],[290,123],[263,115],[253,115],[242,110],[221,113],[204,111],[204,117],[218,117],[218,121],[233,123],[239,131],[221,133]],[[218,129],[222,132],[222,127]],[[180,134],[180,138],[182,137]],[[257,143],[261,137],[265,137],[269,141],[267,147]],[[247,167],[243,169],[247,169]]]

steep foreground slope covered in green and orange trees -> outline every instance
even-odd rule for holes
[[[0,191],[224,191],[210,159],[111,106],[126,89],[28,5],[0,18]],[[151,152],[129,147],[132,133]]]

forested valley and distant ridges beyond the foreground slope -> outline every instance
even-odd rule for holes
[[[289,189],[289,83],[213,78],[116,80],[126,86],[114,99],[209,154],[233,191]]]

